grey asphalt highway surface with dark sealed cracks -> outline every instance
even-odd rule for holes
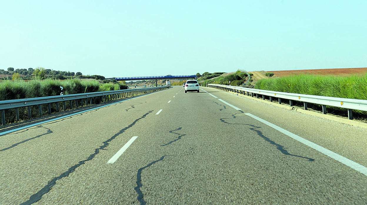
[[[245,113],[364,166],[365,129],[203,89],[174,87],[0,136],[1,204],[366,202],[367,176]]]

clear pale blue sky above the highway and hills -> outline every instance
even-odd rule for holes
[[[0,69],[105,77],[367,67],[366,0],[0,1]]]

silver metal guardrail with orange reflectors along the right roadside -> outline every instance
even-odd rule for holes
[[[259,98],[259,95],[262,95],[262,99],[265,99],[265,96],[269,96],[270,101],[273,101],[273,97],[275,97],[278,98],[280,104],[281,99],[288,99],[290,106],[293,106],[293,100],[304,102],[305,110],[307,110],[307,103],[319,104],[322,105],[322,110],[324,114],[326,114],[326,106],[341,107],[348,109],[348,118],[350,120],[353,120],[352,110],[367,111],[367,100],[276,92],[219,84],[208,84],[208,87],[222,89],[226,91],[233,91],[237,93],[240,92],[240,94],[243,92],[244,95],[245,92],[247,92],[247,95],[256,95],[257,98]]]

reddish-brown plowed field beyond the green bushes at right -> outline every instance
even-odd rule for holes
[[[367,67],[361,68],[337,68],[337,69],[314,69],[314,70],[278,70],[268,71],[276,77],[293,76],[299,74],[349,76],[354,74],[367,74]]]

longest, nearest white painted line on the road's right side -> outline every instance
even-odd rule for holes
[[[355,161],[349,160],[348,158],[343,157],[342,155],[339,155],[339,154],[337,154],[337,153],[335,153],[335,152],[333,152],[331,150],[328,150],[328,149],[326,149],[324,147],[321,147],[318,144],[315,144],[313,142],[310,142],[309,140],[306,140],[304,138],[301,138],[300,136],[298,136],[298,135],[296,135],[296,134],[294,134],[292,132],[289,132],[289,131],[281,128],[281,127],[278,127],[277,125],[272,124],[271,122],[268,122],[268,121],[263,120],[263,119],[261,119],[261,118],[259,118],[257,116],[254,116],[253,114],[250,114],[250,113],[245,113],[245,114],[247,116],[250,116],[250,117],[254,118],[255,120],[258,120],[258,121],[260,121],[260,122],[262,122],[262,123],[264,123],[264,124],[266,124],[266,125],[274,128],[274,129],[276,129],[277,131],[279,131],[279,132],[281,132],[281,133],[283,133],[285,135],[288,135],[289,137],[297,140],[298,142],[301,142],[301,143],[303,143],[303,144],[311,147],[312,149],[315,149],[315,150],[317,150],[317,151],[319,151],[319,152],[321,152],[321,153],[323,153],[323,154],[325,154],[325,155],[333,158],[334,160],[337,160],[337,161],[341,162],[342,164],[345,164],[345,165],[349,166],[350,168],[355,169],[356,171],[358,171],[358,172],[360,172],[360,173],[362,173],[362,174],[364,174],[364,175],[367,176],[367,167],[365,167],[363,165],[360,165],[360,164],[358,164]]]

